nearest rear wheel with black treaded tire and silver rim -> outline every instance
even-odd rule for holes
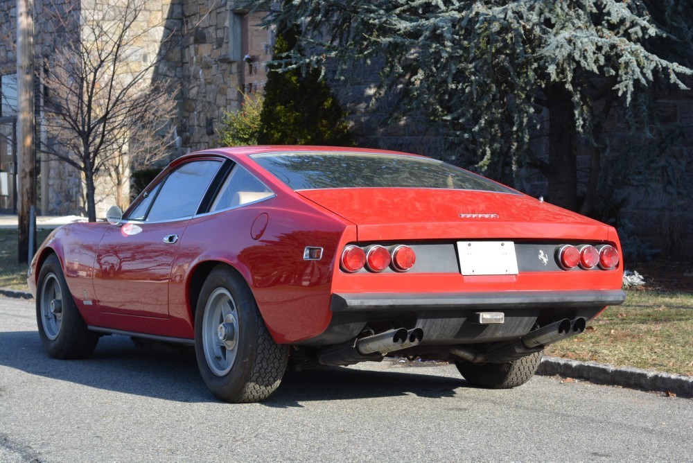
[[[286,371],[289,347],[272,340],[245,280],[226,265],[214,268],[202,285],[195,356],[204,383],[227,402],[267,399]]]

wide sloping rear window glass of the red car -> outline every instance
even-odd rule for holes
[[[427,157],[359,152],[292,152],[252,159],[294,190],[436,188],[514,193],[480,175]]]

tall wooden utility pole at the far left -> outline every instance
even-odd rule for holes
[[[17,209],[19,263],[28,263],[30,209],[36,204],[33,0],[17,0]],[[35,236],[35,234],[31,234]],[[35,239],[35,238],[34,238]],[[32,243],[33,249],[36,248]]]

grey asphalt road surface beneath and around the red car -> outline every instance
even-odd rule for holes
[[[33,301],[0,298],[0,462],[693,460],[693,400],[536,377],[470,387],[450,365],[289,373],[263,403],[216,401],[189,353],[102,338],[52,360]]]

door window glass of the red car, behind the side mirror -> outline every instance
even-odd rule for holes
[[[221,164],[220,161],[209,160],[188,162],[179,166],[166,177],[164,184],[159,188],[146,220],[159,222],[195,215]],[[155,191],[156,188],[152,193]],[[146,202],[146,199],[143,202]],[[141,205],[133,211],[133,218]]]

